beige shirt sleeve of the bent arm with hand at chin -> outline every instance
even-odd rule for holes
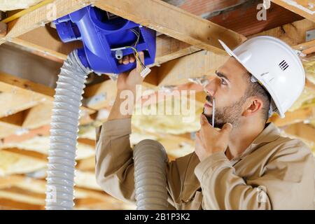
[[[303,144],[281,148],[257,179],[235,174],[223,152],[214,153],[195,168],[204,209],[314,208],[314,157]]]

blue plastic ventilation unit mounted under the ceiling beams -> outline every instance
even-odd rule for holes
[[[118,63],[121,57],[134,53],[133,48],[144,52],[145,65],[154,63],[155,31],[99,8],[87,6],[57,19],[55,25],[64,43],[83,42],[84,47],[78,50],[80,61],[96,73],[134,69],[136,62]]]

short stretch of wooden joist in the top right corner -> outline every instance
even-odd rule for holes
[[[272,0],[274,3],[315,22],[315,2],[313,0]]]

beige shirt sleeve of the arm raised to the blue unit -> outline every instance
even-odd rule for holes
[[[97,183],[106,193],[134,202],[130,133],[130,118],[109,120],[97,130],[95,175]]]

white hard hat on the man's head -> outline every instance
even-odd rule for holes
[[[272,97],[269,116],[276,112],[284,118],[305,84],[304,68],[295,50],[272,36],[250,38],[233,51],[223,41],[220,43],[253,75],[251,81],[258,80],[269,92]]]

